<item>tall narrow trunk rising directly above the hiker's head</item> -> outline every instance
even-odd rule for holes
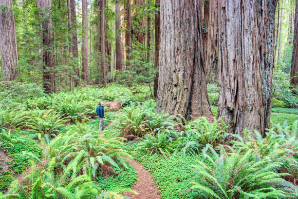
[[[105,42],[105,1],[101,0],[101,19],[100,19],[100,43],[101,43],[101,72],[102,72],[102,86],[106,87],[106,42]]]

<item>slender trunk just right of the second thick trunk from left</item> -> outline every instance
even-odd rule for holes
[[[74,51],[75,51],[75,46],[74,46],[74,40],[73,40],[73,27],[72,27],[72,8],[71,8],[71,0],[67,0],[67,7],[68,7],[68,31],[69,31],[69,40],[71,41],[71,44],[69,45],[69,54],[70,54],[70,63],[72,68],[75,70],[75,65],[74,65]],[[74,74],[73,72],[70,72],[70,90],[74,90]]]

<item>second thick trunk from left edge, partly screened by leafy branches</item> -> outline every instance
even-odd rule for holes
[[[55,65],[54,65],[54,37],[53,24],[51,19],[51,0],[37,0],[42,17],[42,62],[43,62],[43,88],[45,93],[55,92]]]

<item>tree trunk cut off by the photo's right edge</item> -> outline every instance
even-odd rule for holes
[[[295,25],[293,35],[293,57],[291,65],[291,84],[298,84],[298,0],[296,0]],[[295,78],[294,78],[295,77]]]

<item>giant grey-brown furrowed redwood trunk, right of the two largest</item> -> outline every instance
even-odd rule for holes
[[[223,0],[217,118],[263,136],[270,124],[275,0]]]

